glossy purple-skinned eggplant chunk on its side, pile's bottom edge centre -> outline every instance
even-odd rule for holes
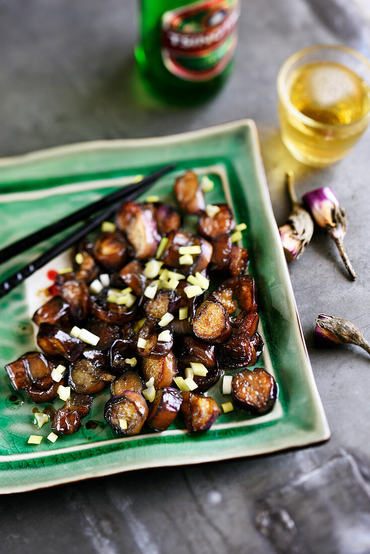
[[[149,427],[156,431],[165,431],[173,423],[179,413],[183,397],[176,388],[160,388],[155,393],[155,398],[151,404],[148,419],[146,422]]]

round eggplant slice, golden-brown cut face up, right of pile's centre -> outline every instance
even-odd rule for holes
[[[194,335],[205,342],[224,342],[231,334],[229,314],[220,302],[204,300],[190,319]]]

